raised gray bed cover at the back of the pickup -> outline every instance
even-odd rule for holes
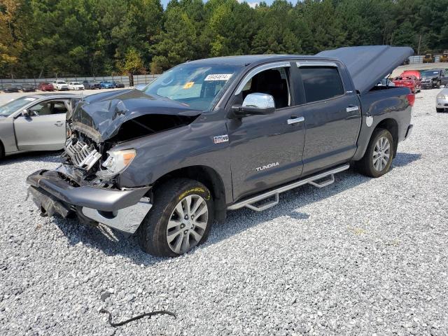
[[[316,54],[316,56],[333,57],[343,62],[349,70],[356,90],[361,94],[372,89],[412,55],[414,55],[412,48],[390,45],[345,47]]]

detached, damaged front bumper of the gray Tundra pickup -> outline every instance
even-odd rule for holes
[[[144,195],[150,187],[110,190],[91,186],[74,187],[57,170],[38,170],[27,177],[29,193],[44,214],[66,218],[78,214],[83,221],[102,223],[134,233],[152,204]]]

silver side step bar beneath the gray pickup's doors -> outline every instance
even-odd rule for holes
[[[284,193],[285,191],[303,186],[304,184],[311,184],[312,186],[315,186],[317,188],[323,188],[326,186],[330,186],[330,184],[335,182],[335,174],[344,172],[344,170],[349,169],[350,165],[346,164],[343,166],[336,167],[334,169],[328,170],[327,172],[323,172],[314,176],[309,176],[306,179],[295,181],[293,183],[287,184],[286,186],[282,186],[280,188],[269,190],[265,193],[262,193],[260,195],[253,196],[251,198],[248,198],[247,200],[243,200],[241,202],[237,202],[235,204],[230,205],[228,207],[228,210],[237,210],[241,208],[248,208],[255,211],[263,211],[269,208],[274,207],[276,204],[279,204],[279,194]],[[328,177],[329,179],[325,181],[319,181],[321,179],[324,179],[325,177]],[[262,204],[260,206],[255,205],[255,203],[260,202],[262,200],[267,200],[269,197],[274,196],[274,200],[271,202],[267,202],[265,204]]]

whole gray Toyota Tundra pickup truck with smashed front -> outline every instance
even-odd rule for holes
[[[176,256],[203,243],[227,210],[262,211],[279,194],[328,186],[356,164],[385,174],[412,130],[414,94],[376,84],[410,48],[186,62],[144,91],[85,97],[62,165],[27,178],[43,214],[137,233]]]

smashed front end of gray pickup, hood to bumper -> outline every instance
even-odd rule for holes
[[[134,148],[114,148],[188,125],[199,114],[166,99],[142,97],[141,92],[93,96],[78,104],[67,123],[62,165],[28,176],[29,193],[48,216],[76,214],[85,223],[102,223],[132,234],[152,207],[151,186],[120,186],[120,173],[138,153]]]

